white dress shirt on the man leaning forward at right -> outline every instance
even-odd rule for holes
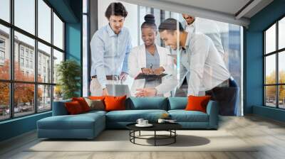
[[[188,96],[217,87],[230,74],[212,40],[202,33],[188,33],[185,50],[181,53],[182,65],[189,74]]]

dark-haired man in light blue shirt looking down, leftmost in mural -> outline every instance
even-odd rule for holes
[[[123,27],[127,15],[120,2],[110,4],[105,11],[108,25],[96,31],[90,41],[90,92],[93,96],[112,94],[106,84],[122,83],[128,76],[128,55],[132,44],[128,28]]]

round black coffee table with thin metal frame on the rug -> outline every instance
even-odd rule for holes
[[[141,145],[141,146],[167,146],[172,143],[176,142],[176,130],[182,128],[180,124],[177,123],[154,123],[152,124],[153,126],[151,127],[138,127],[135,126],[136,123],[134,124],[128,124],[126,127],[130,130],[130,142]],[[154,131],[153,135],[141,135],[140,131]],[[157,134],[157,131],[168,131],[170,132],[169,135],[159,135]],[[139,132],[138,136],[135,136],[135,132]],[[153,138],[147,138],[149,136],[153,136]],[[135,139],[145,139],[145,140],[154,140],[155,144],[154,145],[144,145],[140,143],[135,143]],[[157,140],[165,140],[165,139],[171,139],[169,143],[165,144],[157,144]]]

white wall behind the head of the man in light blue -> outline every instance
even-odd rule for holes
[[[110,3],[120,2],[125,6],[128,11],[128,16],[125,18],[124,26],[127,27],[132,36],[133,47],[138,45],[138,5],[129,4],[122,1],[113,0],[99,0],[98,1],[98,28],[101,28],[108,24],[108,19],[105,17],[105,11]]]

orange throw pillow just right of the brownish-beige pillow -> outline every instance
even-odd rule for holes
[[[127,96],[122,96],[122,97],[106,96],[104,99],[105,111],[125,110],[126,98]]]

